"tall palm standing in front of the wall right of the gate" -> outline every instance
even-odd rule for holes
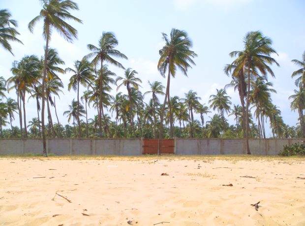
[[[270,73],[274,77],[274,72],[269,65],[278,63],[274,58],[270,57],[271,54],[277,54],[271,47],[272,40],[269,37],[263,36],[262,32],[248,32],[244,37],[244,50],[233,51],[229,55],[237,57],[231,65],[234,65],[234,74],[243,73],[244,78],[247,76],[247,98],[245,106],[245,124],[246,124],[246,149],[247,154],[251,154],[248,139],[248,126],[249,126],[249,104],[250,104],[250,81],[251,78],[258,75],[258,71],[267,77]],[[278,65],[279,66],[279,65]]]

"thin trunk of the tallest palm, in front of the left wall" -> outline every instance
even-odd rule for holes
[[[41,126],[42,126],[42,144],[43,144],[43,156],[47,155],[47,145],[46,145],[46,133],[44,127],[44,105],[45,105],[45,81],[47,77],[47,60],[48,60],[48,48],[49,48],[49,23],[46,21],[46,48],[44,51],[44,64],[43,64],[43,79],[42,79],[42,105],[41,105]]]

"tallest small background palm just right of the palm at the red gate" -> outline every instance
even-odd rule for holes
[[[201,97],[197,97],[197,92],[194,92],[192,90],[188,91],[188,93],[184,93],[185,98],[182,98],[183,103],[188,108],[188,115],[189,115],[189,125],[190,125],[190,135],[191,138],[194,137],[194,131],[193,131],[193,122],[194,122],[194,115],[193,110],[196,110],[198,106],[200,105],[199,100]]]

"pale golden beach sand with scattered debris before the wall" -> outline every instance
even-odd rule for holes
[[[304,226],[300,178],[304,159],[1,158],[0,225]]]

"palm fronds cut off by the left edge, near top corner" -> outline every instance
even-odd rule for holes
[[[0,45],[14,56],[9,41],[16,41],[21,44],[23,43],[16,38],[16,36],[20,34],[15,29],[17,27],[17,21],[10,19],[10,17],[11,14],[7,9],[0,9]]]

